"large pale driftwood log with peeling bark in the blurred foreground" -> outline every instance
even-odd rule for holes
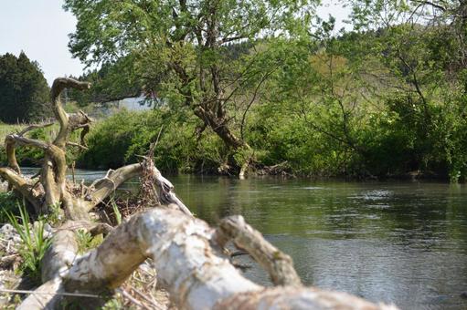
[[[244,223],[241,218],[237,219],[233,222]],[[236,243],[244,245],[243,242],[254,240],[251,245],[273,249],[276,256],[285,257],[259,233],[243,228],[228,230],[235,231],[229,235],[235,235]],[[77,258],[66,272],[61,271],[47,285],[54,292],[107,292],[122,284],[145,259],[151,258],[158,284],[181,309],[396,308],[371,304],[350,294],[305,288],[296,281],[292,281],[293,285],[266,288],[244,278],[219,249],[218,231],[206,222],[178,210],[155,208],[122,223],[98,248]],[[61,253],[69,253],[69,249],[62,249]],[[290,259],[286,262],[292,263]],[[269,272],[274,274],[276,269],[270,268]],[[51,306],[57,301],[52,297],[42,298],[40,305],[34,305],[31,302],[35,299],[30,296],[20,308]]]

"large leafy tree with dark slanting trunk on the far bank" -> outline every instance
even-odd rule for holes
[[[74,56],[88,64],[132,57],[135,83],[143,92],[157,94],[173,109],[190,109],[201,120],[198,133],[211,129],[233,150],[236,160],[230,163],[236,169],[244,164],[239,161],[248,161],[249,155],[241,154],[250,150],[239,137],[237,115],[244,113],[238,109],[249,109],[251,94],[269,76],[271,67],[264,66],[277,64],[267,61],[271,45],[237,59],[229,57],[227,45],[292,37],[313,5],[313,0],[65,1],[78,19],[69,43]]]

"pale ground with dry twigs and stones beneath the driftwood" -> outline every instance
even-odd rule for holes
[[[31,238],[37,238],[39,222],[40,220],[27,224]],[[24,223],[21,223],[20,227],[24,227],[23,225]],[[53,233],[56,233],[56,229],[48,224],[44,225],[42,234],[44,240],[50,238]],[[89,251],[98,245],[91,241],[89,233],[77,230],[76,234],[80,243],[80,252]],[[37,284],[40,284],[39,280],[31,278],[27,273],[25,265],[30,263],[27,262],[27,251],[32,251],[32,249],[25,248],[25,246],[24,234],[18,233],[11,223],[0,223],[0,253],[2,254],[0,258],[0,307],[2,309],[15,309],[37,289]],[[34,247],[35,244],[29,244],[29,246]],[[135,306],[144,309],[176,309],[170,305],[167,292],[156,289],[156,284],[154,268],[149,261],[146,261],[117,289],[116,294],[110,300],[101,296],[99,302],[104,304],[103,308],[109,309]]]

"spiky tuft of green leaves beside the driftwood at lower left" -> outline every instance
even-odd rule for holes
[[[6,213],[9,222],[16,233],[21,237],[22,243],[18,250],[23,258],[22,269],[32,280],[40,283],[40,262],[50,246],[51,240],[44,236],[43,220],[37,221],[37,225],[31,225],[26,207],[19,206],[20,216],[18,221],[13,213]]]

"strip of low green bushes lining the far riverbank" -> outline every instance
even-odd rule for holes
[[[438,154],[438,159],[432,164],[424,163],[418,167],[413,161],[414,150],[384,145],[388,141],[368,140],[365,151],[342,151],[342,145],[325,135],[316,135],[299,120],[293,124],[295,129],[284,128],[285,125],[277,123],[277,127],[245,130],[245,140],[253,150],[250,160],[253,172],[314,179],[465,180],[464,165],[451,167],[454,161],[451,159],[449,163],[443,159],[444,155]],[[1,125],[0,140],[4,140],[5,134],[25,126]],[[70,148],[67,160],[69,165],[75,161],[76,168],[116,169],[137,162],[155,141],[158,143],[154,162],[165,173],[217,175],[219,167],[228,167],[237,160],[216,133],[210,129],[198,129],[199,123],[194,117],[180,119],[162,109],[143,112],[123,110],[108,119],[94,122],[87,136],[87,150]],[[54,130],[54,127],[32,130],[29,136],[49,140]],[[377,136],[371,139],[377,139]],[[72,140],[79,141],[79,134],[75,133]],[[41,151],[18,148],[16,157],[20,165],[38,166]],[[0,146],[1,164],[6,164],[3,146]],[[235,171],[230,173],[235,175]]]

